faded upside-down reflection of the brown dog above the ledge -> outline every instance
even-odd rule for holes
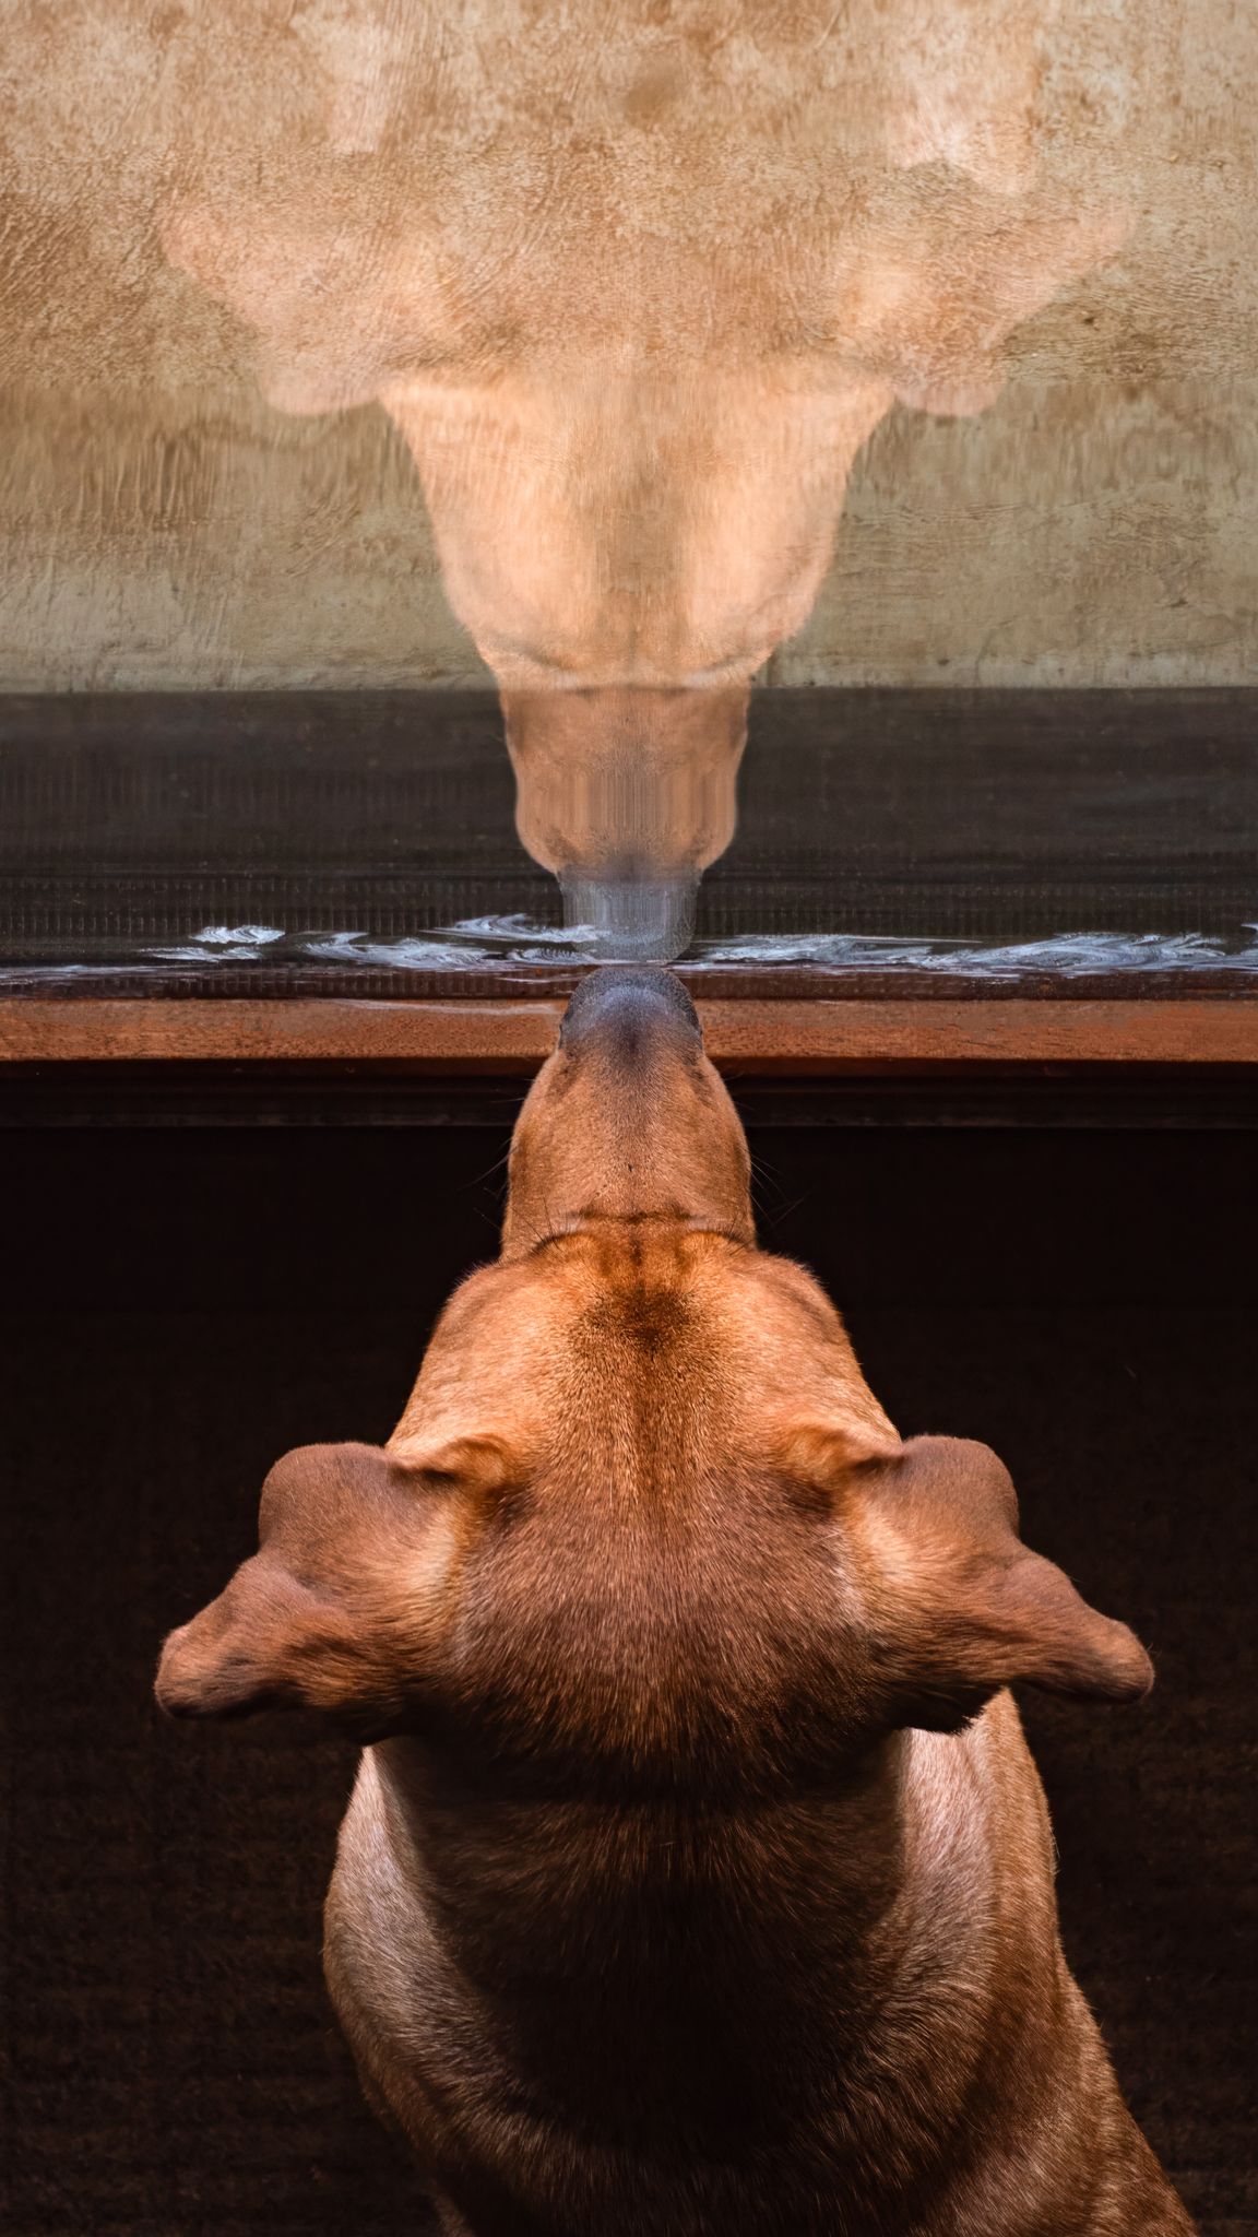
[[[166,253],[271,403],[387,409],[524,846],[604,953],[678,955],[862,445],[895,403],[989,403],[1128,230],[1083,121],[1133,101],[1133,43],[1115,81],[1059,0],[228,13],[184,63]]]

